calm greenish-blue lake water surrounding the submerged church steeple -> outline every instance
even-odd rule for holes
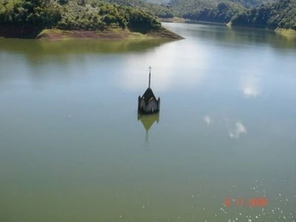
[[[164,26],[185,39],[0,39],[0,222],[296,220],[296,41]]]

